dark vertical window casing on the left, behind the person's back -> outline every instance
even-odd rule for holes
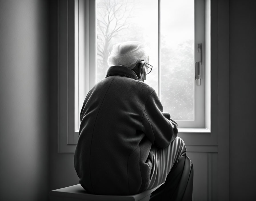
[[[74,6],[73,0],[58,1],[58,153],[76,147]]]

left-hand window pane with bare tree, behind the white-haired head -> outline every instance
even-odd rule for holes
[[[96,82],[106,76],[107,58],[112,46],[125,41],[139,41],[149,46],[149,64],[153,70],[145,83],[157,91],[158,3],[147,0],[97,0]]]

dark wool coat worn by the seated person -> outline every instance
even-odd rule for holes
[[[163,112],[155,90],[124,66],[112,66],[88,93],[74,166],[81,186],[92,194],[130,195],[150,180],[152,144],[168,146],[177,123]]]

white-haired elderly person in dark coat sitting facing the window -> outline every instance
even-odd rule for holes
[[[191,200],[193,166],[177,123],[143,83],[152,70],[146,49],[136,41],[113,46],[105,79],[83,103],[75,170],[92,194],[132,195],[165,182],[151,200]]]

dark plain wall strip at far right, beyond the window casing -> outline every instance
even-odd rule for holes
[[[256,200],[256,1],[229,4],[230,200]]]

